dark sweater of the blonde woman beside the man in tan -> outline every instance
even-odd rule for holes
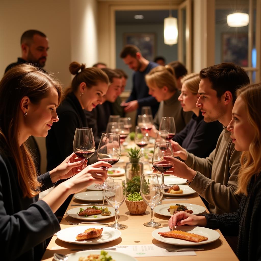
[[[202,113],[199,116],[193,114],[186,127],[177,133],[173,140],[200,158],[206,158],[215,149],[223,126],[220,122],[206,123]]]

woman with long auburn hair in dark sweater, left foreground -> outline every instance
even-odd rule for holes
[[[29,64],[11,68],[0,82],[1,260],[41,260],[45,240],[60,230],[54,212],[69,194],[102,183],[107,174],[101,166],[111,167],[97,162],[81,170],[84,162],[72,154],[55,169],[37,175],[25,141],[30,135],[46,137],[58,121],[61,97],[60,83]],[[38,200],[39,192],[67,178]]]

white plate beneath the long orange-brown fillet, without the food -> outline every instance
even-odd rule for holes
[[[163,228],[158,228],[158,229],[154,230],[152,232],[152,236],[153,236],[153,238],[157,239],[158,241],[168,243],[171,245],[180,245],[180,246],[203,245],[203,244],[207,244],[207,243],[216,241],[220,237],[220,234],[217,231],[212,230],[210,228],[204,228],[204,227],[176,226],[175,230],[181,230],[181,231],[188,232],[188,233],[198,234],[200,236],[206,236],[208,239],[205,241],[201,241],[201,242],[191,242],[191,241],[186,241],[183,239],[169,238],[169,237],[158,234],[158,232],[169,232],[169,227],[163,227]]]

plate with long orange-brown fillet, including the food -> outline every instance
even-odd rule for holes
[[[170,231],[169,227],[158,228],[152,232],[152,236],[171,245],[194,246],[216,241],[220,234],[210,228],[176,226],[173,231]]]

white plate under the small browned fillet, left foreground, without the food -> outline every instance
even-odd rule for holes
[[[103,228],[103,232],[98,238],[91,238],[86,240],[77,240],[76,236],[80,233],[84,233],[84,231],[88,228]],[[69,243],[80,244],[80,245],[96,245],[103,244],[106,242],[110,242],[115,240],[121,236],[121,231],[111,227],[105,226],[74,226],[60,230],[57,232],[57,238]]]

